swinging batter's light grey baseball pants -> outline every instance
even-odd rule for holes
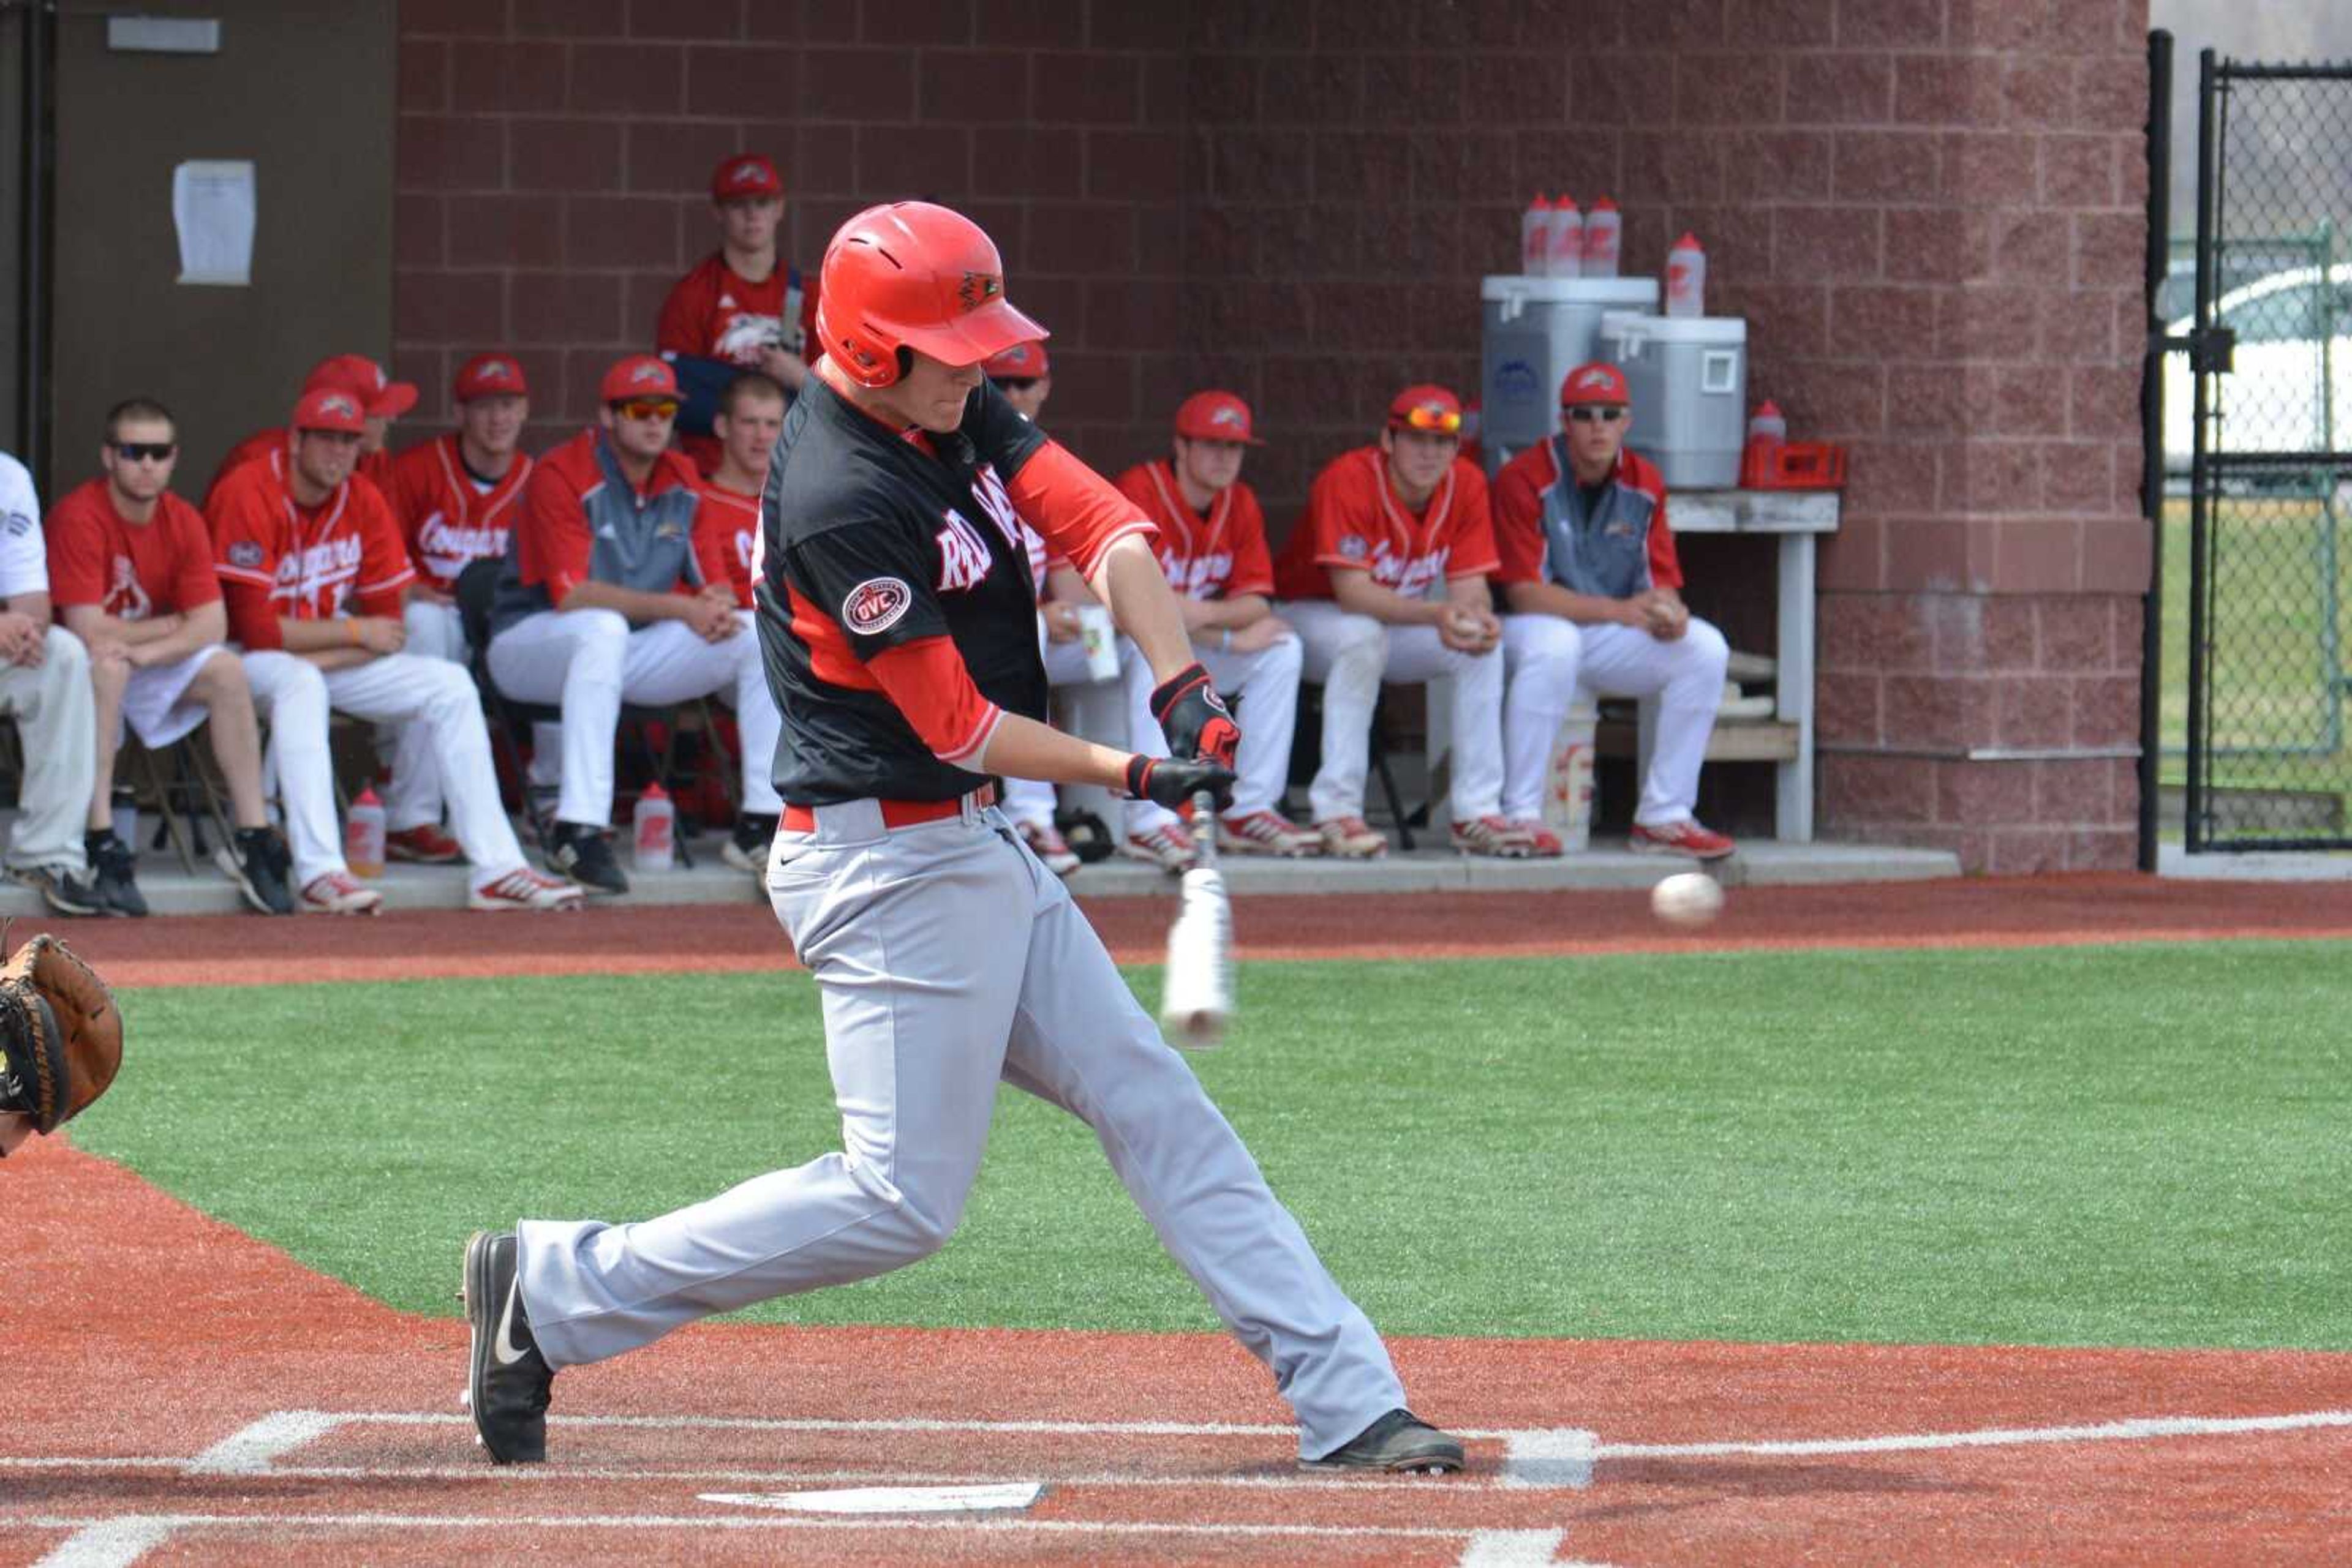
[[[1004,1081],[1094,1128],[1160,1244],[1272,1371],[1301,1455],[1404,1403],[1378,1331],[1002,811],[967,797],[962,816],[887,832],[870,799],[818,806],[811,832],[776,835],[767,889],[823,999],[842,1152],[637,1225],[520,1222],[550,1366],[938,1251]]]

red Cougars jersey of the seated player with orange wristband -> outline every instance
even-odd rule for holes
[[[346,609],[397,616],[400,590],[416,578],[374,484],[353,477],[318,505],[299,505],[282,451],[221,482],[212,545],[221,583],[266,590],[270,611],[289,621],[329,621]]]

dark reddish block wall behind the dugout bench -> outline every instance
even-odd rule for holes
[[[771,153],[788,254],[971,212],[1117,468],[1249,397],[1279,531],[1388,395],[1477,378],[1534,190],[1625,270],[1696,230],[1755,397],[1853,449],[1823,555],[1820,823],[1978,870],[2129,865],[2147,0],[402,0],[400,374],[508,343],[536,437]],[[1693,583],[1755,623],[1769,585]],[[1769,621],[1769,611],[1766,611]]]

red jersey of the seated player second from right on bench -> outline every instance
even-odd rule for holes
[[[1454,458],[1428,503],[1409,512],[1390,484],[1388,456],[1357,447],[1315,475],[1275,585],[1284,599],[1329,599],[1331,567],[1341,567],[1421,599],[1439,581],[1482,576],[1496,564],[1486,475]]]

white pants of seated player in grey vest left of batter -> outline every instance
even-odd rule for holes
[[[776,733],[783,719],[767,693],[760,635],[750,611],[727,642],[703,642],[684,621],[630,628],[612,609],[543,609],[489,642],[489,675],[522,703],[564,710],[564,783],[555,816],[612,825],[614,733],[621,703],[661,708],[729,693],[743,741],[743,811],[776,816]]]

